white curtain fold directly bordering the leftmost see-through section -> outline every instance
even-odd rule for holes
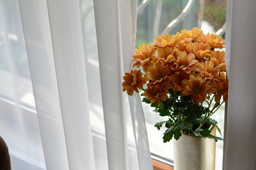
[[[46,1],[19,1],[47,169],[68,169]]]

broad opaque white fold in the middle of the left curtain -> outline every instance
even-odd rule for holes
[[[47,7],[69,167],[93,170],[95,157],[79,1],[47,1]]]

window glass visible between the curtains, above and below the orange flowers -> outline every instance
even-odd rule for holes
[[[191,30],[198,27],[204,33],[217,33],[224,39],[226,22],[226,0],[169,0],[169,1],[142,1],[138,3],[137,16],[137,41],[139,44],[149,44],[158,35],[169,33],[173,35],[181,29]],[[150,141],[152,155],[157,155],[167,160],[173,160],[173,142],[163,143],[164,129],[158,131],[154,124],[165,120],[153,112],[150,105],[143,103],[144,114]],[[215,113],[214,118],[219,122],[223,132],[224,105]],[[219,135],[219,134],[217,134]],[[217,142],[217,169],[221,169],[223,156],[223,141]]]

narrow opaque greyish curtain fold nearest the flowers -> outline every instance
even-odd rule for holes
[[[118,1],[93,1],[109,169],[129,169],[122,114]],[[100,11],[100,12],[96,12]],[[104,25],[104,26],[102,26]]]

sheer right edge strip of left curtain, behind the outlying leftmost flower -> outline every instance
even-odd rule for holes
[[[121,44],[123,71],[129,72],[131,69],[131,56],[135,49],[135,39],[137,31],[137,1],[120,1],[120,25],[121,25]],[[125,97],[127,97],[125,95]],[[125,99],[123,100],[125,102]],[[123,105],[125,107],[125,104]],[[140,95],[135,94],[129,97],[129,107],[124,109],[130,110],[133,135],[137,150],[137,161],[139,169],[152,169],[152,161],[148,144],[148,135],[144,119],[144,112],[141,105]]]

